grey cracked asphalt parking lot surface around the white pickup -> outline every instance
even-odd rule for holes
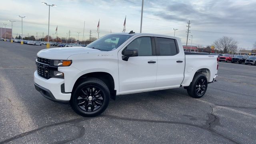
[[[84,118],[35,90],[45,47],[0,41],[0,144],[256,143],[256,66],[219,62],[200,99],[183,88],[122,95]]]

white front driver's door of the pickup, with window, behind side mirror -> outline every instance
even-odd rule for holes
[[[125,49],[138,50],[138,56],[129,57],[128,61],[125,61],[122,60],[123,50],[118,52],[120,94],[154,88],[157,70],[154,39],[151,37],[136,38]]]

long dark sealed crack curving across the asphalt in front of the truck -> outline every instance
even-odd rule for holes
[[[211,108],[212,108],[212,106],[211,106]],[[54,123],[54,124],[46,125],[46,126],[43,126],[43,127],[40,127],[40,128],[34,129],[34,130],[31,130],[31,131],[28,131],[28,132],[24,132],[22,134],[18,134],[16,136],[12,137],[12,138],[8,138],[8,139],[0,142],[0,144],[6,143],[6,142],[10,142],[10,141],[16,140],[18,138],[22,138],[24,136],[27,136],[29,134],[33,134],[33,133],[35,133],[35,132],[37,132],[39,130],[42,130],[44,128],[48,128],[48,127],[52,127],[52,126],[58,126],[58,125],[62,125],[62,124],[73,124],[74,126],[76,126],[78,128],[81,128],[78,136],[76,136],[75,138],[54,142],[54,144],[67,143],[67,142],[76,140],[77,138],[81,138],[82,136],[84,136],[85,128],[84,128],[84,126],[79,125],[78,124],[79,122],[84,122],[84,121],[91,120],[93,118],[99,118],[99,117],[106,117],[106,118],[115,119],[115,120],[127,120],[127,121],[132,121],[132,122],[182,124],[182,125],[186,125],[186,126],[192,126],[192,127],[196,127],[196,128],[207,130],[208,132],[212,132],[214,134],[217,134],[218,136],[221,136],[223,138],[226,138],[227,140],[230,140],[231,142],[239,144],[238,142],[236,142],[236,140],[234,140],[232,138],[229,138],[228,136],[225,136],[224,134],[213,130],[214,126],[218,125],[218,117],[213,114],[213,108],[212,108],[212,112],[209,115],[208,115],[208,120],[207,120],[207,122],[208,122],[207,123],[208,124],[207,127],[205,125],[204,126],[200,126],[200,125],[196,125],[196,124],[190,124],[190,123],[187,123],[187,122],[175,122],[175,121],[165,121],[165,120],[147,120],[147,119],[125,118],[125,117],[114,116],[114,115],[101,115],[101,116],[92,117],[92,118],[81,117],[81,118],[75,118],[75,119],[72,119],[72,120],[67,120],[67,121],[63,121],[63,122],[59,122],[59,123]]]

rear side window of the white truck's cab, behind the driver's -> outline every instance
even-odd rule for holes
[[[170,38],[156,38],[156,46],[158,48],[158,55],[173,56],[178,53],[175,40]]]

